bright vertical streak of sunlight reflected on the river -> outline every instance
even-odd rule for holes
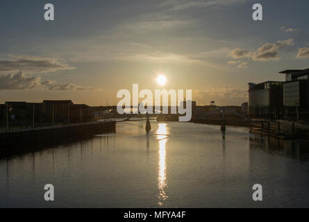
[[[159,123],[158,130],[156,131],[156,137],[159,142],[159,166],[158,166],[158,204],[160,206],[165,204],[167,200],[166,187],[166,143],[167,143],[167,123]]]

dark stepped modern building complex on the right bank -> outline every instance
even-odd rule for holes
[[[285,81],[249,83],[249,117],[309,119],[309,69],[287,69]]]

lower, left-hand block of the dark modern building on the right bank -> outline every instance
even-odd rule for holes
[[[249,83],[249,117],[275,118],[283,110],[283,83]]]

